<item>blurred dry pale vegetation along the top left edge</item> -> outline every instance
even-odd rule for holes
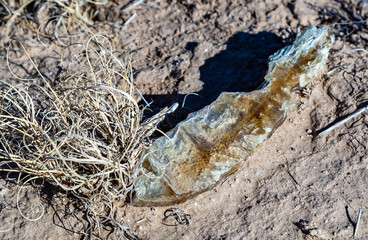
[[[128,23],[135,14],[126,11],[141,4],[142,1],[123,0],[0,0],[0,37],[4,42],[9,37],[17,37],[16,28],[41,34],[43,37],[55,36],[42,33],[40,28],[52,20],[59,29],[71,29],[73,21],[92,26],[96,21],[107,21],[121,28],[120,24]],[[57,33],[57,32],[56,32]]]

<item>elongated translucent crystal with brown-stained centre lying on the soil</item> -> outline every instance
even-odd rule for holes
[[[158,138],[144,156],[133,204],[182,202],[234,173],[292,111],[292,89],[325,66],[333,42],[328,28],[311,26],[269,57],[261,89],[224,92]]]

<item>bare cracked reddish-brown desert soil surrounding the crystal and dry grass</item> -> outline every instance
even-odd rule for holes
[[[309,26],[328,26],[336,37],[323,73],[303,93],[294,93],[297,109],[224,183],[173,206],[118,203],[118,211],[136,238],[353,239],[362,208],[354,239],[368,239],[366,113],[323,136],[311,134],[366,104],[368,2],[133,3],[99,5],[89,27],[113,39],[118,51],[129,52],[135,86],[151,102],[153,113],[174,102],[180,104],[161,125],[163,131],[223,91],[256,89],[267,71],[268,57]],[[0,11],[5,11],[1,4]],[[12,78],[5,47],[11,38],[29,49],[43,72],[57,75],[59,63],[50,57],[51,50],[36,44],[34,32],[19,24],[10,33],[2,33],[3,80]],[[25,58],[20,59],[17,64],[27,64]],[[24,69],[19,68],[19,74],[25,76]],[[88,234],[75,231],[85,220],[68,218],[77,207],[52,195],[53,186],[48,183],[28,186],[19,193],[4,175],[0,179],[0,238],[88,239]],[[41,204],[42,218],[29,221],[22,217],[17,197],[27,211],[32,204]],[[165,217],[170,211],[181,215]]]

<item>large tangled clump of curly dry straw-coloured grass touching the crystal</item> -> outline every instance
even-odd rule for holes
[[[104,224],[129,232],[115,203],[130,196],[162,119],[161,113],[142,122],[129,57],[119,61],[108,44],[90,38],[75,54],[78,71],[66,69],[56,84],[40,72],[17,85],[0,81],[0,171],[73,194],[87,211],[87,232],[96,235]]]

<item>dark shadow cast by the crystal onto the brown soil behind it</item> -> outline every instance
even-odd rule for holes
[[[194,52],[197,46],[197,42],[188,42],[185,49]],[[153,101],[153,112],[145,113],[145,117],[178,102],[179,109],[161,124],[161,129],[167,131],[188,114],[213,102],[222,92],[249,92],[257,89],[264,80],[268,57],[283,46],[282,39],[274,33],[237,32],[227,40],[225,50],[207,59],[199,67],[202,90],[186,98],[186,95],[179,93],[144,95],[145,99]],[[181,108],[184,99],[185,105]]]

